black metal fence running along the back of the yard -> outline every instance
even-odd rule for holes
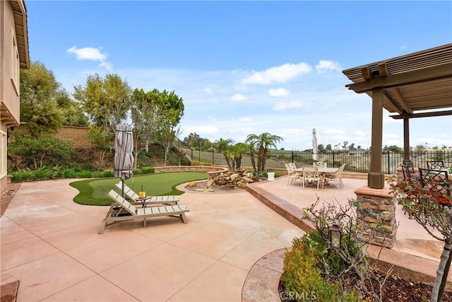
[[[193,149],[182,149],[192,161],[199,161],[212,165],[227,165],[222,153],[215,151],[201,151]],[[256,158],[257,159],[257,158]],[[340,167],[345,163],[345,169],[352,172],[367,173],[370,170],[371,153],[370,151],[327,151],[317,155],[318,161],[324,161],[328,167]],[[417,168],[427,168],[427,161],[444,161],[444,166],[452,166],[451,150],[424,150],[411,151],[410,160]],[[293,162],[297,167],[302,165],[312,165],[311,151],[284,151],[272,150],[268,153],[266,168],[285,168],[285,163]],[[383,151],[381,155],[381,171],[386,174],[396,174],[396,168],[403,163],[403,153],[392,151]],[[249,153],[242,156],[242,166],[251,167]]]

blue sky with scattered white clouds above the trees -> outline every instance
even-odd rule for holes
[[[452,42],[452,1],[33,1],[30,58],[70,93],[89,74],[183,98],[181,139],[368,148],[371,99],[344,69]],[[451,105],[452,107],[452,105]],[[383,146],[403,124],[383,112]],[[442,132],[432,132],[429,127]],[[410,120],[410,145],[452,146],[452,117]]]

